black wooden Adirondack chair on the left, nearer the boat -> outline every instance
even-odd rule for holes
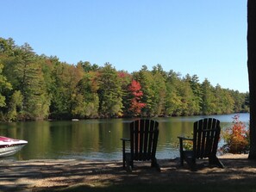
[[[149,161],[151,166],[160,171],[157,158],[155,157],[159,123],[153,120],[140,119],[130,123],[130,139],[122,139],[122,163],[128,171],[134,168],[134,161]],[[126,149],[129,141],[130,149]]]

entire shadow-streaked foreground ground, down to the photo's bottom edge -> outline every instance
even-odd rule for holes
[[[132,173],[122,162],[44,160],[1,162],[0,192],[5,191],[249,191],[256,192],[256,162],[246,158],[223,159],[225,169],[198,161],[198,171],[179,166],[178,159],[159,160],[162,171],[136,164]]]

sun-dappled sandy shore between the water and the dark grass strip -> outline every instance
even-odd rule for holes
[[[122,161],[88,161],[79,159],[35,159],[27,161],[0,161],[0,191],[38,191],[59,189],[72,185],[94,185],[97,183],[121,184],[162,182],[204,183],[255,181],[256,161],[247,155],[228,154],[220,157],[225,169],[209,167],[207,160],[197,161],[199,170],[192,172],[179,159],[159,159],[161,172],[149,163],[136,162],[132,173],[122,169]]]

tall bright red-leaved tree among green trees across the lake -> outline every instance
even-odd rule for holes
[[[128,90],[131,93],[130,107],[128,108],[128,110],[131,112],[132,115],[138,116],[140,115],[141,108],[144,108],[146,106],[146,103],[140,102],[141,97],[143,96],[140,83],[133,80],[128,86]]]

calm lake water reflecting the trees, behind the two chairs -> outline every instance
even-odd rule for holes
[[[206,116],[161,117],[157,158],[179,156],[179,135],[190,136],[193,122]],[[222,129],[231,127],[234,115],[211,115],[221,121]],[[9,157],[28,159],[98,159],[121,160],[121,138],[129,137],[129,122],[133,119],[103,119],[82,121],[31,121],[0,123],[0,135],[28,140],[21,152]],[[249,114],[240,114],[248,127]],[[222,140],[221,140],[222,145]]]

